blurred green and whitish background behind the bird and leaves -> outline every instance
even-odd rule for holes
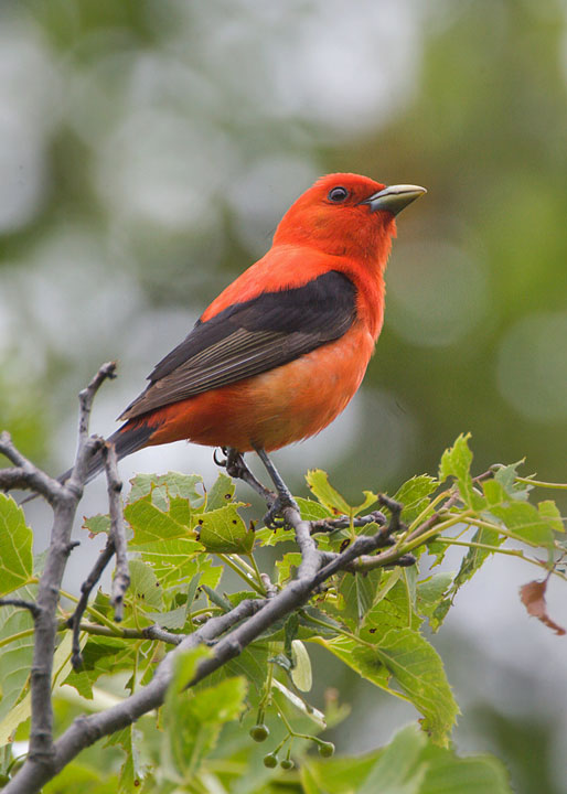
[[[346,494],[392,492],[467,430],[478,471],[525,455],[565,480],[565,2],[3,0],[0,76],[0,426],[34,460],[68,465],[76,393],[118,358],[94,417],[114,429],[289,204],[354,171],[429,192],[399,217],[361,394],[276,455],[292,487],[319,465]],[[167,469],[214,475],[185,444],[122,472]],[[522,612],[512,568],[481,572],[436,639],[457,743],[560,794],[566,642]],[[549,603],[565,623],[565,592]],[[352,698],[345,751],[413,718]]]

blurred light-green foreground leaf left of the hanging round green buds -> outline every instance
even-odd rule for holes
[[[199,691],[182,691],[202,653],[196,661],[195,652],[183,657],[176,661],[163,708],[165,732],[161,753],[163,774],[178,784],[194,780],[201,763],[216,745],[222,726],[243,712],[246,697],[244,678],[228,678]]]

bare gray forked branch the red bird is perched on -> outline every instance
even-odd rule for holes
[[[40,472],[33,464],[23,459],[13,448],[9,438],[1,437],[0,452],[14,463],[15,474],[0,476],[0,485],[25,482],[26,487],[43,494],[54,509],[52,538],[47,554],[45,570],[40,580],[38,602],[32,610],[35,618],[35,644],[31,670],[32,726],[30,751],[28,759],[3,788],[6,794],[34,794],[82,750],[98,739],[126,728],[142,715],[163,704],[168,686],[174,670],[176,656],[200,644],[213,648],[210,657],[203,659],[197,667],[190,686],[202,680],[214,670],[237,656],[250,643],[269,630],[277,621],[286,618],[303,607],[321,584],[339,571],[368,570],[371,567],[384,567],[396,564],[408,564],[407,555],[392,544],[392,535],[405,527],[399,522],[400,506],[395,502],[381,497],[382,506],[391,512],[391,521],[386,525],[385,517],[371,514],[361,519],[365,524],[378,524],[374,535],[361,535],[354,543],[340,554],[330,555],[318,549],[313,536],[313,524],[303,521],[295,506],[284,508],[285,521],[293,528],[296,541],[301,552],[301,564],[297,578],[279,592],[271,584],[266,587],[267,597],[240,602],[222,615],[208,620],[190,635],[178,635],[167,632],[160,626],[145,629],[145,636],[157,642],[169,643],[174,647],[165,655],[156,669],[156,674],[146,687],[139,689],[120,704],[106,711],[83,715],[74,720],[69,728],[56,740],[53,740],[53,706],[51,700],[51,682],[53,672],[53,654],[56,632],[61,629],[56,620],[56,609],[61,581],[68,554],[73,547],[71,530],[78,501],[88,472],[88,460],[93,449],[104,444],[101,439],[88,436],[88,418],[95,394],[101,383],[114,377],[115,365],[106,364],[97,373],[89,386],[81,394],[79,442],[78,451],[68,480],[61,484]],[[126,540],[124,518],[120,506],[121,483],[116,466],[116,453],[113,447],[105,450],[105,465],[110,503],[111,530],[107,546],[108,559],[117,555],[117,575],[113,588],[115,605],[121,603],[128,587],[128,567],[126,559]],[[2,472],[0,472],[0,475]],[[341,519],[336,522],[340,525]],[[334,528],[338,528],[335,526]],[[321,529],[319,529],[321,530]],[[328,530],[328,529],[327,529]],[[385,548],[389,546],[388,548]],[[379,549],[384,549],[379,551]],[[374,554],[378,551],[378,554]],[[404,559],[406,557],[406,559]],[[108,561],[107,559],[107,561]],[[106,562],[105,562],[106,565]],[[98,568],[93,571],[97,576]],[[268,580],[269,582],[269,580]],[[30,609],[28,604],[21,604]],[[77,631],[81,614],[77,615]],[[96,627],[89,626],[93,631]],[[128,630],[122,631],[128,636]]]

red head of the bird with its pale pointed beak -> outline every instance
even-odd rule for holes
[[[307,245],[384,267],[396,236],[395,216],[424,193],[417,185],[386,186],[359,174],[328,174],[284,215],[274,245]]]

